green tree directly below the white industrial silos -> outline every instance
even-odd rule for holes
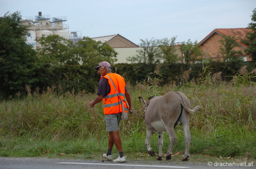
[[[36,41],[41,46],[37,47],[38,54],[51,63],[78,64],[79,58],[73,53],[75,46],[68,39],[60,35],[42,35]],[[71,52],[72,51],[72,52]]]

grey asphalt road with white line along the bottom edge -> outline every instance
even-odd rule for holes
[[[225,165],[225,166],[219,166]],[[207,163],[200,162],[174,162],[174,161],[132,161],[125,163],[113,163],[112,161],[102,162],[101,160],[68,160],[68,159],[50,159],[50,158],[34,158],[34,157],[0,157],[0,169],[172,169],[172,168],[188,168],[188,169],[251,169],[253,166],[227,166],[229,164],[218,164],[218,166],[209,166]],[[243,163],[245,165],[245,163]]]

